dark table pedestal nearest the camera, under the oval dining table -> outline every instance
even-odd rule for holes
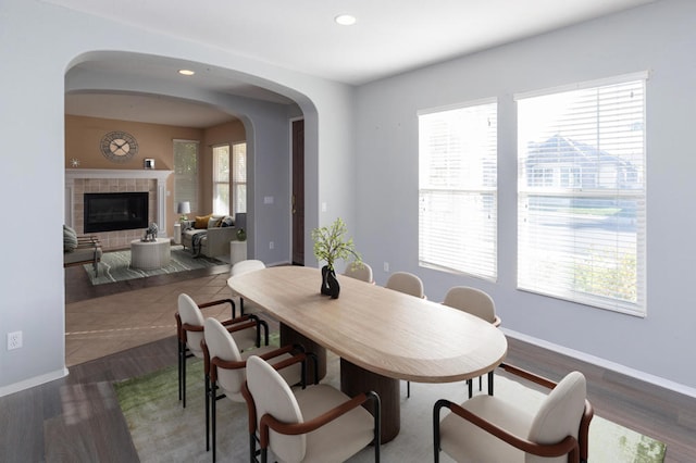
[[[375,391],[382,404],[382,443],[394,439],[401,428],[400,381],[372,373],[345,359],[340,359],[340,390],[349,397]],[[372,402],[363,405],[373,413]]]

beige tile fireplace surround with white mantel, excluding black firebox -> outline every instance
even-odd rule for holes
[[[148,223],[160,226],[159,237],[166,237],[166,178],[172,171],[130,171],[112,168],[65,170],[65,224],[84,234],[86,192],[148,192]],[[142,238],[144,229],[100,232],[97,235],[104,250],[128,248],[130,241]]]

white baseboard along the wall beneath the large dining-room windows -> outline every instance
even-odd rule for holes
[[[611,362],[607,359],[601,359],[599,356],[591,355],[585,352],[581,352],[579,350],[570,349],[563,346],[558,346],[552,342],[545,341],[543,339],[534,338],[532,336],[524,335],[522,333],[513,331],[507,328],[500,328],[506,334],[514,339],[519,339],[524,342],[529,342],[534,346],[538,346],[544,349],[552,350],[555,352],[562,353],[568,356],[572,356],[574,359],[581,360],[583,362],[592,363],[597,366],[601,366],[604,368],[611,370],[617,373],[621,373],[626,376],[631,376],[632,378],[636,378],[638,380],[652,384],[655,386],[663,387],[666,389],[670,389],[674,392],[683,393],[685,396],[689,396],[696,399],[696,389],[693,387],[688,387],[660,376],[651,375],[649,373],[642,372],[639,370],[634,370],[625,365],[621,365],[620,363]]]

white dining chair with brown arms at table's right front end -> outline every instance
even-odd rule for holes
[[[481,395],[461,405],[446,399],[433,408],[434,461],[444,451],[457,462],[586,462],[594,412],[585,376],[571,372],[558,384],[511,365],[508,373],[550,388],[536,410],[511,399]],[[440,421],[443,409],[450,413]]]

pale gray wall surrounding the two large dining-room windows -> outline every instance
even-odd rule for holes
[[[362,86],[357,99],[359,234],[378,284],[420,275],[427,297],[455,285],[489,291],[502,326],[608,362],[696,387],[689,289],[696,286],[696,2],[663,0],[475,55]],[[647,313],[637,318],[515,287],[517,140],[512,95],[649,71],[647,83]],[[497,97],[498,263],[495,283],[418,265],[420,109]],[[656,379],[656,378],[651,378]]]

